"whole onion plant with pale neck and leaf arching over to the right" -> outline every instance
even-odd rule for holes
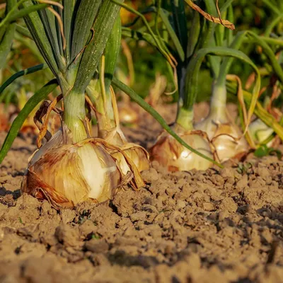
[[[233,10],[231,10],[231,16],[233,17]],[[231,12],[230,11],[230,12]],[[230,31],[229,31],[230,33]],[[245,134],[250,123],[251,117],[253,115],[253,110],[255,108],[256,101],[260,92],[260,72],[255,64],[246,56],[243,52],[238,49],[241,47],[243,39],[245,38],[245,33],[238,33],[235,37],[233,35],[226,35],[224,37],[223,33],[220,33],[222,38],[222,44],[226,44],[226,47],[212,47],[199,50],[199,54],[193,59],[194,65],[197,66],[195,73],[200,69],[200,59],[203,59],[207,54],[216,54],[224,56],[224,58],[219,57],[209,57],[210,67],[214,76],[214,82],[212,85],[212,96],[210,98],[210,109],[209,115],[204,118],[201,122],[195,125],[196,129],[200,129],[207,132],[207,135],[212,142],[214,148],[216,149],[216,156],[222,163],[230,158],[242,157],[248,151],[248,143],[244,137],[244,133],[238,125],[232,121],[227,114],[226,102],[226,76],[229,73],[233,59],[241,59],[241,61],[246,62],[255,70],[257,78],[255,81],[255,87],[253,88],[253,99],[250,103],[250,108],[248,113],[246,113],[246,105],[243,102],[243,95],[241,91],[241,81],[238,77],[234,75],[229,75],[230,79],[237,80],[238,87],[238,100],[241,104],[243,110],[243,122],[245,124]],[[231,38],[233,40],[231,41]],[[214,39],[214,44],[216,45],[216,40]],[[220,42],[221,43],[221,42]],[[214,58],[214,59],[213,59]],[[192,74],[192,79],[197,78],[197,74]]]

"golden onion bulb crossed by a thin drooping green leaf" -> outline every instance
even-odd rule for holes
[[[200,151],[209,158],[213,158],[209,141],[202,136],[200,131],[184,132],[180,127],[174,127],[175,132],[193,149]],[[167,168],[168,171],[189,171],[191,169],[206,170],[212,166],[211,161],[198,156],[182,146],[170,134],[163,132],[156,144],[150,150],[151,161]]]

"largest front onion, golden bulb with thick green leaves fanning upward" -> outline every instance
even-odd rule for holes
[[[118,1],[119,3],[122,0]],[[35,5],[21,2],[21,9]],[[22,192],[56,207],[73,207],[84,200],[108,200],[122,184],[137,189],[141,175],[119,146],[91,137],[86,113],[86,88],[98,69],[120,6],[111,0],[62,0],[24,17],[33,40],[62,91],[62,128],[51,138],[43,123],[22,183]],[[98,98],[100,99],[100,98]],[[45,113],[49,117],[50,107]],[[47,142],[41,146],[45,137]],[[115,156],[116,154],[116,156]],[[127,172],[117,162],[127,163]]]

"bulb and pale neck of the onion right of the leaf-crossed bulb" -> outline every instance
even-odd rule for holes
[[[248,151],[248,144],[240,128],[231,122],[226,113],[226,88],[214,86],[209,115],[195,124],[195,129],[207,133],[221,163]]]

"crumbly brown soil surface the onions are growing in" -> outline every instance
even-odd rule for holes
[[[173,122],[175,109],[162,111]],[[159,130],[125,132],[149,146]],[[0,282],[283,282],[277,157],[177,173],[154,163],[139,192],[57,212],[20,193],[34,144],[20,134],[0,167]]]

